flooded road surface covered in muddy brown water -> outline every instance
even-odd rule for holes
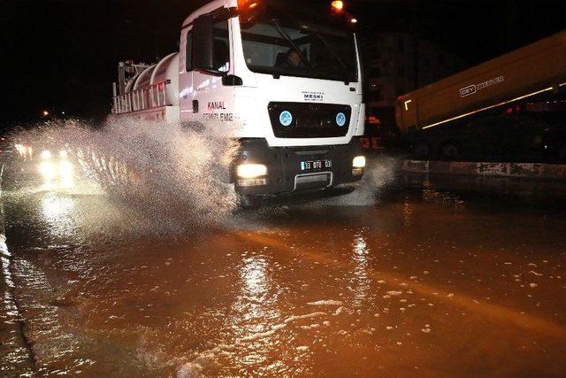
[[[0,375],[564,376],[565,195],[412,176],[171,235],[7,190]]]

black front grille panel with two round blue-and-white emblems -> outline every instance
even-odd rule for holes
[[[269,103],[278,138],[328,138],[348,134],[352,107],[340,104]]]

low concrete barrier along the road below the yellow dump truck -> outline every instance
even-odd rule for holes
[[[416,174],[466,174],[566,181],[566,165],[543,163],[404,160],[401,170]]]

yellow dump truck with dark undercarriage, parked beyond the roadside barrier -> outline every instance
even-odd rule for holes
[[[417,158],[514,152],[566,158],[566,31],[406,95],[395,109]]]

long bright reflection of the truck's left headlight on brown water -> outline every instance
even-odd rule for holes
[[[219,342],[195,352],[180,368],[179,377],[215,376],[233,372],[249,375],[286,374],[293,371],[278,352],[280,333],[292,319],[283,319],[278,280],[272,278],[278,264],[265,251],[244,252],[235,269],[233,303],[222,328],[214,332]]]

